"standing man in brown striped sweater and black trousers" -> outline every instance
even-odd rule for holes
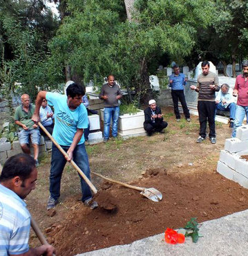
[[[198,76],[197,86],[190,88],[199,93],[198,113],[200,122],[199,138],[197,143],[202,143],[206,138],[207,121],[209,122],[209,139],[212,144],[216,144],[216,91],[220,91],[218,75],[209,71],[209,62],[202,62],[202,74]]]

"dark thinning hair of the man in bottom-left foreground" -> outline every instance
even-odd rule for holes
[[[34,169],[35,159],[32,156],[23,153],[11,156],[3,165],[0,181],[8,181],[15,176],[19,176],[22,181],[25,181]]]

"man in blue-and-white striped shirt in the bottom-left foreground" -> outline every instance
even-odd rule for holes
[[[35,189],[37,169],[28,154],[6,161],[0,176],[0,255],[49,255],[55,248],[43,245],[29,248],[30,213],[23,199]]]

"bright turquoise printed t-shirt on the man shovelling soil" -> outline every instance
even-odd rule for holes
[[[78,129],[88,128],[88,114],[84,104],[80,104],[77,109],[69,109],[67,96],[59,93],[46,93],[46,100],[51,103],[55,109],[55,127],[53,129],[53,138],[62,146],[70,146]],[[78,145],[84,143],[82,136]]]

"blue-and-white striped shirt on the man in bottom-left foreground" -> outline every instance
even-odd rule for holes
[[[29,250],[30,213],[26,203],[0,184],[0,255],[19,255]]]

